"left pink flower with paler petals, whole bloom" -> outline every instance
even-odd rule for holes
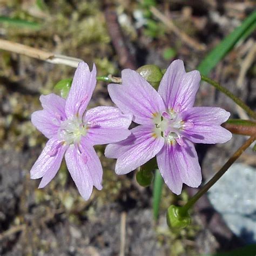
[[[55,177],[62,159],[81,196],[87,200],[92,188],[102,189],[103,170],[93,145],[118,142],[130,135],[131,114],[117,107],[99,106],[86,111],[96,86],[96,67],[81,62],[68,98],[53,93],[41,96],[43,110],[32,113],[33,125],[49,140],[30,171],[31,179],[42,178],[39,188]]]

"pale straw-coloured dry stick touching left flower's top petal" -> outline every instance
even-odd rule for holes
[[[0,49],[22,54],[31,58],[41,59],[53,64],[72,66],[73,68],[77,68],[78,63],[83,61],[82,59],[58,55],[4,39],[0,39]]]

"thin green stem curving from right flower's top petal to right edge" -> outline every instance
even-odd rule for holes
[[[219,83],[214,80],[201,75],[201,79],[208,84],[213,85],[216,89],[223,92],[226,96],[230,97],[235,103],[237,103],[243,110],[245,110],[252,118],[256,119],[256,112],[254,112],[249,106],[247,106],[242,100],[233,95],[229,90],[225,87],[221,86]]]

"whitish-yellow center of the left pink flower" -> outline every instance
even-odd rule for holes
[[[82,118],[73,117],[60,123],[58,139],[66,144],[78,144],[82,136],[87,133],[87,125]]]

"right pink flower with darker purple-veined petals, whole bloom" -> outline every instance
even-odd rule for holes
[[[125,174],[154,156],[161,176],[176,194],[183,183],[201,184],[201,169],[193,143],[225,143],[232,134],[220,126],[230,113],[219,107],[193,107],[200,73],[186,73],[182,60],[174,60],[158,92],[137,72],[122,71],[122,85],[110,84],[109,94],[124,113],[132,113],[139,126],[122,142],[107,145],[105,156],[117,158],[116,173]]]

